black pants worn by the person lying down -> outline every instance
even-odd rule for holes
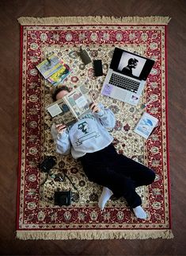
[[[142,204],[135,188],[151,184],[155,173],[145,165],[118,154],[111,144],[94,153],[80,157],[90,181],[112,190],[114,196],[123,196],[131,208]]]

